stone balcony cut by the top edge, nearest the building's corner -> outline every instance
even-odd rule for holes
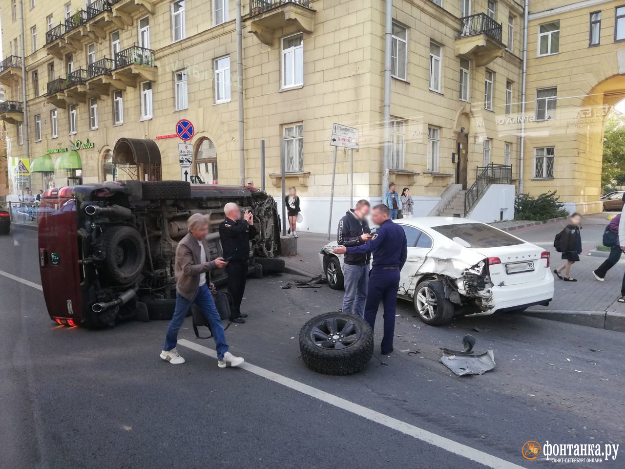
[[[249,31],[263,44],[272,45],[277,31],[287,23],[297,31],[312,33],[315,10],[310,0],[250,0]]]

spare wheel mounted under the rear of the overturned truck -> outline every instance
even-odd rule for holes
[[[100,237],[104,251],[104,270],[107,280],[126,285],[141,275],[146,260],[146,250],[139,231],[131,226],[113,226]]]

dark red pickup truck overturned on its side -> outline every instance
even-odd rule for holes
[[[222,255],[219,223],[235,202],[254,214],[249,272],[282,260],[276,202],[240,186],[184,181],[121,181],[48,189],[41,199],[39,268],[49,316],[102,328],[124,319],[170,318],[176,302],[174,255],[194,213],[209,219],[211,258]],[[216,284],[224,270],[213,271]]]

